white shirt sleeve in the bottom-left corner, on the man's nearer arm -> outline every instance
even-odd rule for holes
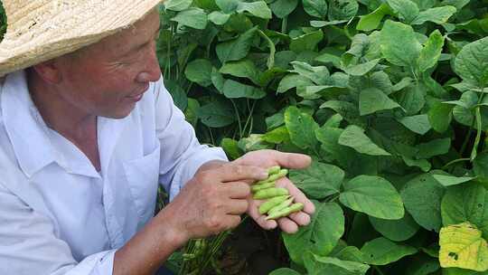
[[[1,184],[0,221],[0,274],[112,274],[115,251],[75,261],[69,245],[55,236],[52,220],[33,211]]]

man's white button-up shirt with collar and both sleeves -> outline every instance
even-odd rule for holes
[[[46,127],[25,72],[0,83],[0,274],[112,274],[115,251],[202,164],[227,160],[199,144],[164,88],[151,83],[125,119],[98,119],[101,170]]]

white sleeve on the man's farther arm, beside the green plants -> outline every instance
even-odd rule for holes
[[[170,200],[180,192],[200,166],[211,160],[227,161],[220,147],[201,145],[192,125],[174,105],[163,78],[155,85],[156,135],[161,144],[160,175]]]

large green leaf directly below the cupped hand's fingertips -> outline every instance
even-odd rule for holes
[[[290,258],[304,264],[304,251],[326,255],[333,250],[344,233],[344,215],[341,206],[335,203],[314,201],[315,213],[308,226],[303,226],[294,234],[282,233]]]

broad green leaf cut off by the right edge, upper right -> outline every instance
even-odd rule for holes
[[[485,87],[488,75],[488,37],[463,47],[455,57],[455,72],[464,81]]]

